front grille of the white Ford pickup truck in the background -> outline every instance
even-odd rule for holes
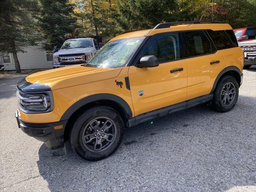
[[[58,62],[60,65],[73,65],[73,64],[84,64],[87,61],[87,55],[84,53],[79,54],[66,54],[59,55]]]

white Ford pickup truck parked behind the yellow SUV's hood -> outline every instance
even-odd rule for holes
[[[66,40],[60,50],[54,47],[53,68],[85,64],[102,48],[94,38],[74,38]]]

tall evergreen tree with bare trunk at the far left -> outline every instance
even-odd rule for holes
[[[24,46],[36,45],[36,26],[33,19],[36,1],[3,0],[0,5],[0,52],[12,53],[17,73],[20,63],[17,52]]]

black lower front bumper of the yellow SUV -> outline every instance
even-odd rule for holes
[[[49,149],[64,147],[64,129],[68,120],[53,123],[28,123],[20,119],[19,111],[15,112],[18,127],[28,136],[46,144]]]

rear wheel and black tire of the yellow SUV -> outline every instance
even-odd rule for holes
[[[230,85],[230,91],[227,86]],[[231,91],[232,87],[232,91]],[[233,92],[234,94],[231,94]],[[236,104],[238,99],[239,86],[238,82],[233,76],[226,75],[222,77],[214,90],[214,96],[212,100],[212,107],[219,112],[228,112]],[[230,101],[230,102],[229,102]]]

